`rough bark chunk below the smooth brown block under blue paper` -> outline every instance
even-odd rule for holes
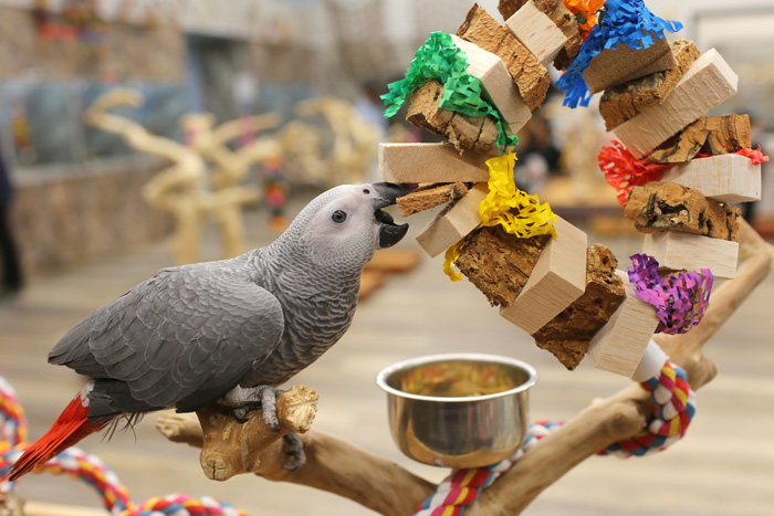
[[[599,114],[605,119],[607,130],[618,127],[647,107],[662,104],[699,57],[699,50],[692,41],[678,40],[669,46],[677,66],[605,89],[599,101]]]

